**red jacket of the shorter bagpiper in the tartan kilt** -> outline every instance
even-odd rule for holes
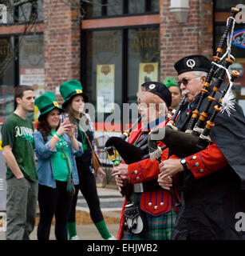
[[[160,123],[159,127],[164,127],[167,122]],[[137,138],[140,138],[141,126],[138,126],[137,130],[132,130],[129,143],[136,142]],[[164,146],[164,142],[158,142],[158,146]],[[164,150],[161,155],[161,160],[168,159],[168,150]],[[160,174],[159,162],[157,160],[151,161],[150,158],[141,160],[140,162],[134,162],[128,165],[128,178],[130,183],[135,184],[139,182],[148,182],[158,178]],[[124,205],[125,205],[124,201]],[[171,192],[164,189],[157,189],[153,191],[146,191],[141,193],[140,196],[140,209],[144,210],[148,214],[159,216],[160,214],[168,213],[172,209],[172,195]],[[124,206],[121,212],[121,224],[120,230],[117,235],[117,239],[121,239],[121,234],[124,227]]]

